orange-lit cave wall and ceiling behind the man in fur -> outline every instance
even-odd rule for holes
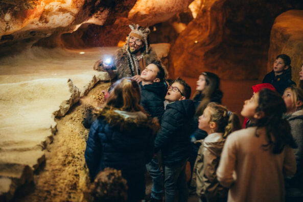
[[[275,18],[299,0],[3,0],[0,48],[20,40],[44,47],[116,46],[128,24],[169,42],[171,78],[213,71],[222,79],[262,79]],[[1,50],[1,49],[0,49]]]

